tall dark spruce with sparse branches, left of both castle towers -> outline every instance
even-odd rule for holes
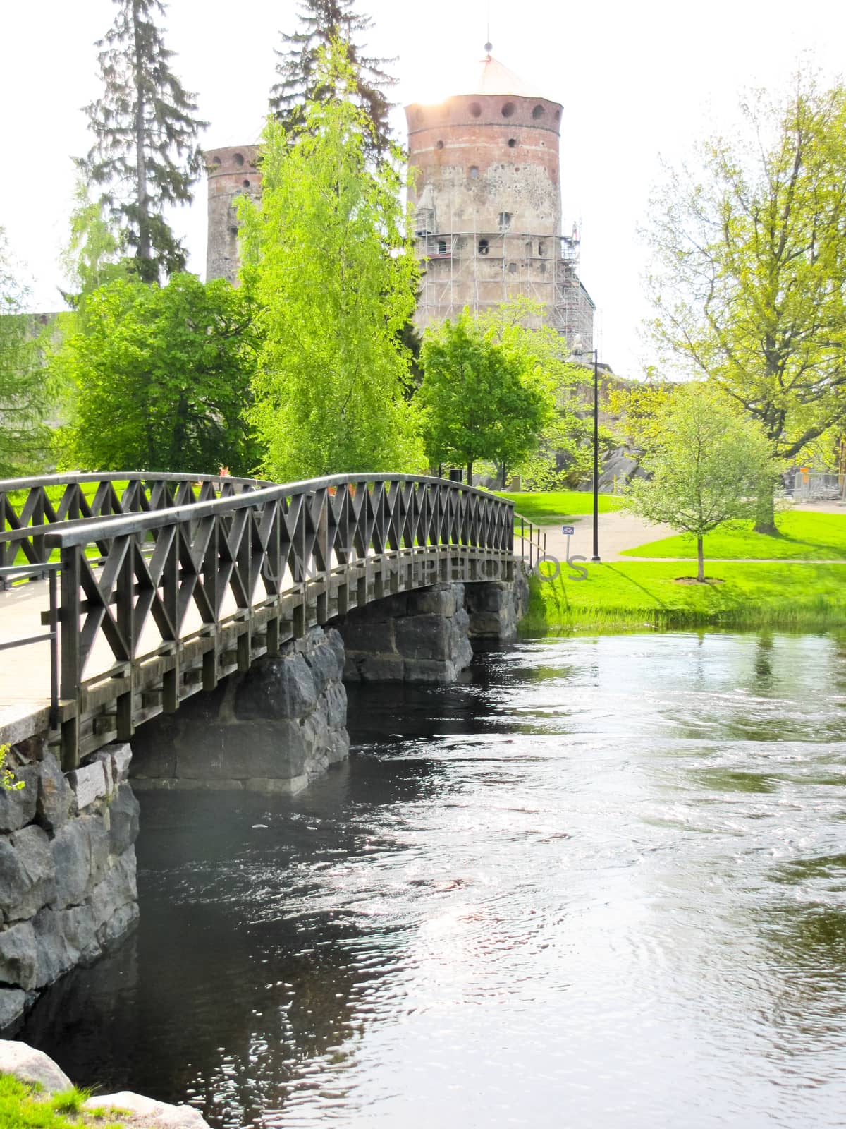
[[[161,0],[114,0],[115,21],[99,47],[103,97],[86,107],[95,143],[80,161],[105,185],[103,202],[139,277],[158,281],[185,268],[185,248],[164,217],[167,204],[188,203],[202,156],[194,95],[170,70],[153,17]]]

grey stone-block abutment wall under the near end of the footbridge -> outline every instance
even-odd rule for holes
[[[43,743],[10,754],[24,787],[0,790],[0,1029],[138,920],[131,755],[111,745],[65,776]]]

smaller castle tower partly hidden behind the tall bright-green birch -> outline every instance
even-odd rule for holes
[[[262,194],[262,174],[256,168],[256,146],[231,146],[210,149],[205,154],[209,174],[209,238],[205,252],[205,277],[238,281],[238,217],[235,198]]]

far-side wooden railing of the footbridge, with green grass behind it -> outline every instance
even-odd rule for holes
[[[170,509],[268,484],[221,474],[146,471],[0,479],[0,568],[11,568],[19,555],[17,563],[45,564],[50,554],[44,535],[59,522]]]

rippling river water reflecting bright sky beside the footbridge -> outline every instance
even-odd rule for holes
[[[846,639],[543,639],[351,694],[294,798],[142,797],[20,1038],[215,1127],[846,1123]]]

